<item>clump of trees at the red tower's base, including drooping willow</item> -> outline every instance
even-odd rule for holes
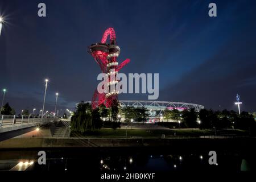
[[[144,122],[147,119],[147,109],[144,107],[119,107],[114,105],[107,109],[104,105],[92,109],[89,103],[80,102],[71,118],[71,130],[79,133],[98,130],[102,126],[116,129],[120,126],[121,118],[125,122]]]

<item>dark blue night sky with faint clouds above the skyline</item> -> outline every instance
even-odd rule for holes
[[[38,3],[47,6],[39,18]],[[217,17],[208,16],[210,2]],[[19,114],[73,109],[90,101],[100,67],[87,52],[114,27],[123,73],[159,73],[159,101],[201,104],[208,109],[256,111],[255,1],[20,1],[0,0],[0,88]],[[120,94],[146,100],[147,94]],[[2,101],[2,93],[0,96]]]

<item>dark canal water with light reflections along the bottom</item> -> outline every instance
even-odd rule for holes
[[[210,165],[209,151],[177,152],[170,148],[62,148],[44,150],[46,164],[38,164],[38,151],[0,151],[0,170],[30,163],[27,171],[168,172],[256,170],[253,152],[216,151]]]

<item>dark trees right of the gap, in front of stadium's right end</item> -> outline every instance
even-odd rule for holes
[[[174,122],[182,123],[188,128],[200,127],[201,129],[244,129],[248,130],[255,127],[255,120],[252,114],[243,111],[240,115],[236,111],[213,111],[201,109],[198,112],[195,109],[189,110],[165,110],[164,119],[171,119]]]

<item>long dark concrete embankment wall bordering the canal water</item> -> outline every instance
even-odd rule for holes
[[[0,142],[0,150],[31,148],[168,147],[173,150],[255,150],[256,138],[183,139],[79,139],[12,138]]]

